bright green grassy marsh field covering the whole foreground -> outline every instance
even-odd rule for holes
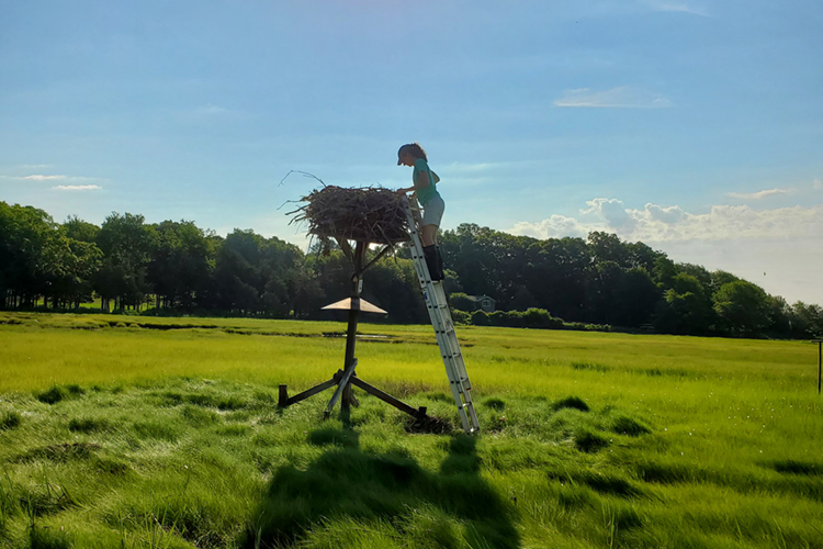
[[[482,434],[357,392],[343,326],[0,313],[0,548],[823,547],[816,346],[459,329]],[[429,326],[358,374],[456,427]]]

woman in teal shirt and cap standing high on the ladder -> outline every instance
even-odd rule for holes
[[[397,166],[408,166],[412,171],[412,187],[397,189],[397,194],[406,194],[415,191],[417,201],[422,206],[422,227],[420,237],[422,239],[422,251],[426,255],[426,264],[429,266],[431,280],[443,280],[443,258],[437,246],[437,229],[443,217],[446,203],[440,193],[437,192],[437,183],[440,178],[431,171],[426,157],[426,152],[417,143],[403,145],[397,150]]]

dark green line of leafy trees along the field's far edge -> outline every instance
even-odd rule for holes
[[[790,305],[730,272],[675,262],[613,234],[537,239],[463,224],[439,242],[458,309],[471,309],[460,294],[485,294],[503,311],[540,309],[625,329],[823,335],[820,305]],[[151,224],[131,213],[112,213],[100,226],[77,216],[56,223],[43,210],[0,202],[0,307],[7,310],[72,310],[98,298],[103,311],[324,318],[332,313],[322,306],[348,296],[350,276],[337,249],[304,254],[250,229],[223,237],[191,221]],[[368,271],[363,296],[388,311],[387,322],[428,321],[407,248]],[[486,323],[482,314],[461,317]]]

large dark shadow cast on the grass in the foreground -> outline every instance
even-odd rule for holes
[[[380,520],[399,526],[403,536],[409,512],[422,506],[463,524],[471,547],[520,546],[511,508],[480,477],[474,437],[451,437],[439,472],[405,455],[364,452],[358,434],[349,429],[318,429],[308,442],[329,451],[305,471],[291,466],[277,471],[241,547],[292,547],[308,530],[335,519]],[[458,546],[455,539],[440,542]]]

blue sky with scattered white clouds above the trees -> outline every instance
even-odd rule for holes
[[[5,1],[0,200],[305,248],[290,171],[408,187],[418,142],[442,228],[608,231],[823,304],[821,29],[816,0]]]

